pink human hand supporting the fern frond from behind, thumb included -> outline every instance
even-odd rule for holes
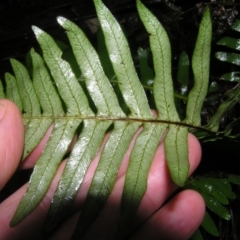
[[[3,105],[4,107],[2,107]],[[2,189],[17,168],[26,169],[34,166],[51,133],[51,129],[48,130],[39,146],[19,166],[24,144],[24,127],[21,114],[10,101],[0,100],[0,118],[0,189]],[[191,174],[200,162],[201,148],[197,139],[191,134],[188,137],[188,144],[189,174]],[[116,216],[120,209],[121,193],[130,151],[131,146],[123,160],[108,202],[87,234],[87,239],[108,239],[112,234],[112,229],[116,226]],[[62,226],[47,239],[68,240],[71,238],[79,215],[78,212],[74,212],[81,209],[83,205],[99,156],[100,153],[94,158],[86,174],[73,205],[73,215],[66,219]],[[48,193],[39,206],[16,227],[10,228],[9,222],[26,192],[27,184],[0,204],[1,240],[45,239],[41,234],[41,229],[64,165],[65,161],[60,165]],[[171,181],[167,170],[164,145],[160,143],[150,168],[147,191],[137,212],[139,218],[142,219],[141,221],[147,220],[144,222],[139,220],[133,223],[133,232],[128,239],[181,240],[188,239],[192,235],[204,216],[204,201],[197,192],[192,190],[182,191],[169,199],[176,189],[177,186]],[[142,225],[136,228],[139,224]]]

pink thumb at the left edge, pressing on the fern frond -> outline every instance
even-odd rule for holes
[[[0,190],[16,171],[23,150],[24,126],[17,106],[0,100]]]

